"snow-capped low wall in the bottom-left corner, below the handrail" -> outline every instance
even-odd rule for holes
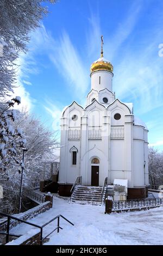
[[[32,229],[27,234],[6,243],[6,245],[40,245],[40,231]]]

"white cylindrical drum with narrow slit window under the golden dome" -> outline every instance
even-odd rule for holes
[[[100,83],[99,83],[99,77]],[[91,89],[102,90],[107,88],[112,92],[112,77],[113,74],[109,71],[95,71],[91,74]]]

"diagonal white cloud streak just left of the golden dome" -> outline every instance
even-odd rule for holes
[[[84,62],[66,32],[62,33],[57,45],[58,47],[53,48],[49,57],[60,74],[65,77],[67,86],[73,89],[74,96],[79,97],[80,92],[81,98],[89,84]]]

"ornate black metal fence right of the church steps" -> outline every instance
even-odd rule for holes
[[[163,206],[163,198],[146,198],[124,201],[112,201],[112,211],[153,208]]]

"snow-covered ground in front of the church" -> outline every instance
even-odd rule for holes
[[[60,220],[63,228],[55,231],[44,245],[163,245],[163,207],[147,211],[104,214],[104,206],[69,204],[54,195],[53,208],[30,222],[42,225],[62,214],[74,226]],[[43,229],[43,236],[57,227],[57,220]],[[26,224],[12,228],[12,233],[26,234]]]

